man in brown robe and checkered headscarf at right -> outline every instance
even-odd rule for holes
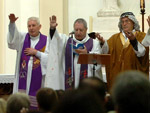
[[[111,54],[110,65],[106,66],[108,89],[120,72],[139,70],[149,74],[149,48],[141,44],[146,34],[140,31],[135,15],[121,14],[118,27],[120,32],[107,40],[108,54]]]

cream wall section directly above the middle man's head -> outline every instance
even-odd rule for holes
[[[89,26],[89,16],[97,17],[102,3],[102,0],[69,0],[69,32],[73,30],[73,23],[77,18],[84,18]]]

